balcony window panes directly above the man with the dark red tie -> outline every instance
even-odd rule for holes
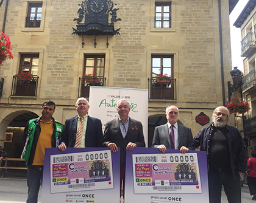
[[[173,55],[152,55],[152,78],[157,74],[173,78]]]

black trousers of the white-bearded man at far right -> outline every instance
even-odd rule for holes
[[[229,203],[241,203],[241,183],[240,176],[234,180],[232,171],[219,171],[210,169],[208,171],[208,185],[210,203],[221,203],[221,188],[227,195]]]

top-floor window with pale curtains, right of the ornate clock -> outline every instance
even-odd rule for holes
[[[171,2],[155,2],[155,28],[171,27]]]

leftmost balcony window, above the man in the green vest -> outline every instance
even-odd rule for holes
[[[39,55],[21,55],[19,74],[26,72],[32,75],[38,75]]]

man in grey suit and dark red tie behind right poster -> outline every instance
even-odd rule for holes
[[[168,106],[165,115],[168,122],[155,128],[152,147],[158,148],[162,153],[166,152],[166,148],[180,150],[182,154],[194,150],[191,129],[177,123],[177,106]]]

